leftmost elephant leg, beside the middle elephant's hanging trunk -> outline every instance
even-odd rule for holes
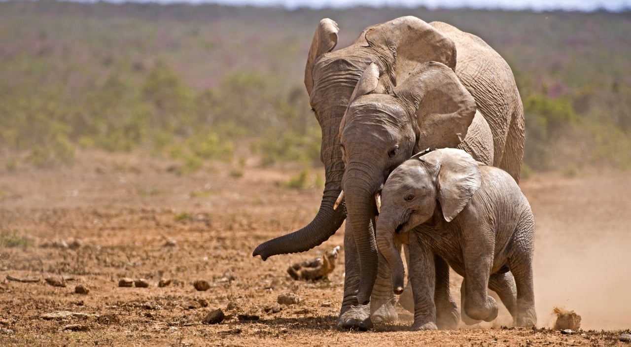
[[[370,304],[359,305],[357,302],[357,292],[360,281],[360,264],[357,246],[353,233],[345,230],[344,233],[344,254],[345,254],[345,278],[344,278],[344,298],[339,311],[337,322],[338,329],[372,329],[370,321]]]

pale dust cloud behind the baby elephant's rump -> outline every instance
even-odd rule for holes
[[[631,327],[631,174],[533,179],[522,189],[536,220],[538,326],[555,307],[581,315],[581,329]]]

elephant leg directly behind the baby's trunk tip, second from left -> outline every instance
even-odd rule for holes
[[[399,247],[401,252],[401,247]],[[379,252],[377,281],[370,295],[370,319],[374,323],[389,323],[399,319],[396,313],[396,296],[392,290],[392,271],[386,258]]]

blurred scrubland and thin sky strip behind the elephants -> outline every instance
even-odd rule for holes
[[[522,177],[631,167],[629,1],[0,1],[0,172],[90,149],[172,158],[180,173],[251,156],[317,168],[302,83],[317,23],[337,21],[340,48],[403,15],[474,33],[509,63]]]

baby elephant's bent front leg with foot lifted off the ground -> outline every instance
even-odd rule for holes
[[[483,235],[483,233],[481,233]],[[466,315],[471,319],[493,321],[497,317],[497,302],[488,296],[488,280],[493,265],[494,242],[477,242],[463,247],[464,303]]]

